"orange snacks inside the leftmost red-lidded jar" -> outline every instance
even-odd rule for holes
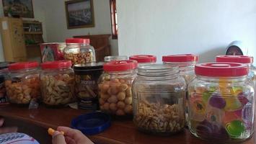
[[[31,99],[37,99],[40,96],[39,74],[21,78],[19,81],[6,80],[4,84],[9,102],[29,104]]]

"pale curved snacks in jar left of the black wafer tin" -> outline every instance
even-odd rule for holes
[[[42,76],[43,102],[48,105],[68,104],[74,100],[74,76]]]

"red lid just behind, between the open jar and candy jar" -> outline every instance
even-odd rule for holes
[[[198,55],[193,54],[180,54],[180,55],[166,55],[162,57],[164,62],[197,62]]]

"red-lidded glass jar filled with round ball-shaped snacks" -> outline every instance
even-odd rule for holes
[[[131,84],[136,77],[135,60],[112,60],[103,65],[105,73],[99,83],[100,109],[113,116],[133,114]]]

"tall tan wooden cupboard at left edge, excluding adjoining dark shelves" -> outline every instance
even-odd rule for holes
[[[22,19],[4,17],[0,24],[5,60],[27,60]]]

